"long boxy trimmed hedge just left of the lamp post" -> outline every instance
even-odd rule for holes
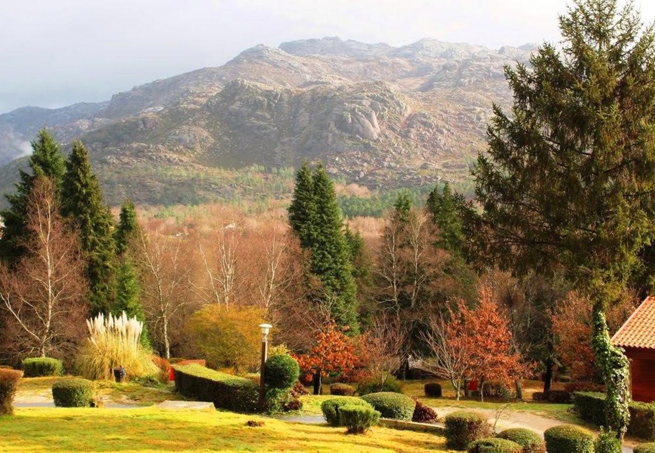
[[[174,365],[175,389],[198,401],[234,412],[255,412],[259,386],[250,379],[214,371],[202,365]],[[293,384],[293,382],[291,383]]]

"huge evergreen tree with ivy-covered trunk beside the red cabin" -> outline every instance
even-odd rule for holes
[[[478,245],[519,272],[563,269],[593,301],[605,426],[622,437],[627,359],[605,308],[655,240],[655,36],[616,0],[577,0],[559,24],[561,51],[543,45],[530,68],[506,69],[512,116],[494,107],[474,171],[489,232]]]

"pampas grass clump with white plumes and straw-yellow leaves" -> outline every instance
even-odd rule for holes
[[[77,367],[88,379],[111,379],[113,369],[124,367],[128,378],[157,375],[159,368],[152,361],[152,351],[143,347],[140,336],[143,323],[102,313],[87,319],[89,337],[77,357]]]

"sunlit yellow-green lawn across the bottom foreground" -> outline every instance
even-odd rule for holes
[[[248,420],[264,426],[248,427]],[[0,450],[395,451],[445,452],[429,433],[373,427],[365,435],[344,428],[291,424],[233,412],[157,408],[18,408],[0,416]]]

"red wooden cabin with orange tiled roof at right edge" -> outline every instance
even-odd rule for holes
[[[632,399],[655,401],[655,297],[646,297],[612,337],[630,359]]]

